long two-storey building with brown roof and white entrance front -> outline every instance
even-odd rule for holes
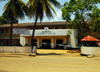
[[[13,28],[19,29],[30,29],[30,33],[32,34],[34,23],[20,23],[20,24],[13,24]],[[68,31],[71,31],[72,34],[70,37],[67,38]],[[42,34],[43,32],[44,35]],[[38,34],[37,34],[38,33]],[[48,34],[49,33],[49,34]],[[98,32],[91,33],[92,36],[98,37]],[[77,39],[75,38],[77,32],[73,29],[67,28],[66,22],[41,22],[37,23],[36,30],[35,30],[35,37],[34,41],[37,47],[51,47],[55,48],[56,45],[53,44],[69,44],[72,46],[76,46]],[[12,45],[15,43],[21,43],[22,45],[27,44],[30,46],[31,44],[31,35],[19,35],[13,34],[12,35]],[[42,43],[51,43],[52,45],[40,44]],[[68,43],[67,43],[68,42]],[[0,25],[0,45],[4,44],[5,46],[10,45],[10,24]]]

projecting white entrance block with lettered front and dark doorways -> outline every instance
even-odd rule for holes
[[[30,30],[30,35],[20,35],[20,43],[22,45],[27,44],[31,45],[31,36],[32,31]],[[71,32],[70,37],[67,38],[68,32]],[[73,29],[49,29],[48,27],[44,27],[44,29],[35,30],[34,41],[36,42],[37,48],[50,46],[51,48],[55,48],[57,45],[54,44],[68,44],[73,47],[76,47],[78,43],[77,39],[77,30]],[[68,43],[67,43],[68,39]],[[44,44],[41,44],[44,43]],[[48,43],[48,44],[45,44]]]

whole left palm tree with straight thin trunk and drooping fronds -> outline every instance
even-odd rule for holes
[[[4,6],[3,16],[10,19],[10,46],[12,45],[12,25],[14,19],[24,19],[25,13],[27,12],[27,6],[22,0],[9,0]]]

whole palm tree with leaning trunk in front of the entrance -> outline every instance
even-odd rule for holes
[[[34,38],[37,20],[40,19],[40,22],[41,22],[44,14],[49,19],[53,18],[52,11],[54,12],[54,14],[56,14],[56,11],[54,10],[52,4],[57,8],[61,8],[61,5],[57,0],[29,0],[27,2],[27,5],[29,7],[28,16],[31,18],[32,17],[36,18],[35,23],[34,23],[34,27],[33,27],[32,37],[31,37],[31,52],[33,49],[33,38]]]

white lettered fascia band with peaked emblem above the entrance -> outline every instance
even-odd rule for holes
[[[49,29],[45,27],[44,29],[35,30],[34,36],[66,36],[68,31],[72,29]],[[30,36],[33,30],[30,30]]]

